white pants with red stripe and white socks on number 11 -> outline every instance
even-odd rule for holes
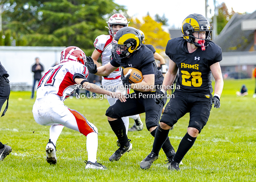
[[[63,126],[87,136],[88,161],[96,161],[98,129],[94,124],[88,122],[82,114],[65,106],[58,95],[49,94],[44,98],[36,99],[32,112],[35,122],[38,124],[43,126],[52,125],[50,139],[55,145]]]

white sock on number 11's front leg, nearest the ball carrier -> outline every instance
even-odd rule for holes
[[[86,136],[86,150],[88,153],[88,161],[95,163],[97,161],[98,150],[98,134],[91,132]]]

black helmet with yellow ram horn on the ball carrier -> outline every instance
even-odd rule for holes
[[[112,54],[115,59],[125,58],[141,47],[141,34],[140,32],[127,26],[119,31],[114,36],[112,41]]]

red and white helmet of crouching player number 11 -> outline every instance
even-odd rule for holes
[[[61,52],[60,63],[67,61],[77,61],[85,66],[87,63],[84,51],[82,51],[79,47],[75,46],[67,47]]]

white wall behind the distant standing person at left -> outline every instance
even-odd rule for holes
[[[35,57],[46,71],[59,62],[60,53],[65,47],[28,47],[28,46],[0,46],[0,61],[8,74],[12,90],[28,90],[33,84],[32,65]],[[42,73],[44,74],[45,71]],[[16,86],[17,88],[15,88]]]

